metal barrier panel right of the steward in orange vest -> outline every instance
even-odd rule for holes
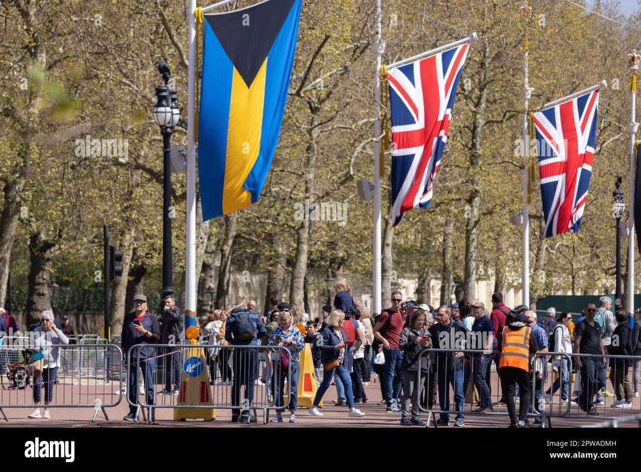
[[[552,398],[546,416],[590,419],[592,421],[594,419],[620,421],[641,413],[641,400],[632,396],[634,385],[633,379],[630,377],[633,373],[633,367],[618,367],[626,360],[635,364],[635,362],[641,361],[641,356],[541,352],[536,354],[539,358],[558,355],[567,358],[570,369],[574,366],[573,370],[576,373],[574,382],[572,382],[572,373],[570,372],[568,392],[571,403],[567,405],[567,408],[559,409],[558,403]],[[577,359],[581,359],[581,364],[584,364],[583,368],[577,368]],[[588,367],[588,363],[590,367]],[[574,388],[572,384],[574,384]],[[552,385],[552,382],[546,382],[544,391],[547,391]],[[628,392],[626,392],[626,385],[628,385]],[[605,396],[601,393],[603,389],[612,389],[615,396]],[[562,387],[559,391],[561,390]],[[619,391],[617,392],[617,390]],[[621,401],[619,401],[619,396]],[[575,405],[574,400],[578,401],[578,404]],[[629,400],[629,403],[626,400]],[[584,408],[582,409],[579,404],[583,404]],[[595,412],[596,415],[588,413],[590,404],[594,406],[592,412]]]

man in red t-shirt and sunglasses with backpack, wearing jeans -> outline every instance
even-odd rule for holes
[[[383,310],[374,326],[374,336],[383,343],[385,356],[385,402],[390,413],[401,412],[398,398],[403,385],[403,372],[401,362],[403,352],[400,349],[401,331],[403,331],[403,313],[401,302],[403,294],[399,291],[392,292],[392,307]]]

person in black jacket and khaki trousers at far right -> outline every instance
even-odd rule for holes
[[[633,353],[632,329],[628,324],[628,315],[625,310],[619,309],[614,315],[617,327],[612,333],[612,345],[609,353],[612,355],[631,356]],[[632,387],[628,378],[632,359],[610,358],[610,382],[614,387],[617,400],[612,403],[615,408],[632,408]]]

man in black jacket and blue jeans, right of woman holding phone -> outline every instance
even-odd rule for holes
[[[450,318],[450,309],[445,305],[438,307],[438,323],[429,328],[434,349],[463,349],[467,330],[462,323]],[[463,394],[463,352],[438,352],[437,384],[438,402],[442,411],[449,411],[449,385],[454,390],[454,407],[456,420],[454,426],[465,426],[465,396]],[[436,421],[437,426],[449,425],[449,414],[441,413]]]

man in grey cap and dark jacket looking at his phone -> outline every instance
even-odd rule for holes
[[[129,313],[122,321],[122,353],[127,355],[129,349],[137,344],[150,344],[150,346],[131,350],[128,358],[129,378],[127,379],[129,401],[133,405],[138,403],[136,394],[138,386],[138,367],[142,369],[145,380],[145,389],[147,391],[147,405],[154,404],[154,367],[156,367],[155,350],[153,344],[160,341],[160,331],[158,330],[158,321],[156,317],[147,310],[147,297],[140,294],[133,297],[133,307],[135,311]],[[129,414],[123,419],[135,420],[137,407],[129,405]]]

